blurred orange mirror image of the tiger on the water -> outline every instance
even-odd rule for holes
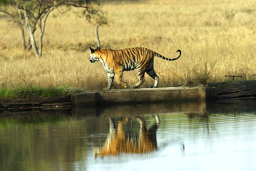
[[[125,133],[124,123],[128,122],[128,117],[118,122],[118,129],[114,125],[114,120],[109,118],[110,128],[106,142],[103,146],[94,146],[94,157],[117,155],[121,153],[150,153],[157,150],[156,130],[160,125],[159,116],[156,115],[156,122],[147,130],[146,122],[136,117],[140,122],[140,133]]]

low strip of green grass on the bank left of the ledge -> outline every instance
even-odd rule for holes
[[[0,99],[40,98],[57,95],[67,95],[81,91],[81,89],[60,85],[58,87],[43,87],[41,85],[21,85],[17,88],[0,87]]]

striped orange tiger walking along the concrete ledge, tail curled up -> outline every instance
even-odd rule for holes
[[[151,88],[157,88],[159,77],[154,70],[154,57],[173,61],[179,59],[181,51],[177,58],[169,59],[166,58],[150,49],[143,47],[127,48],[123,50],[113,50],[113,49],[101,49],[99,46],[97,49],[92,49],[90,47],[90,57],[89,61],[94,63],[95,61],[101,61],[105,71],[108,75],[108,87],[104,90],[110,90],[113,86],[114,76],[116,76],[116,82],[124,87],[128,88],[127,83],[123,82],[123,72],[132,71],[135,68],[138,72],[139,81],[132,85],[131,88],[138,88],[145,81],[145,72],[155,80],[155,84]]]

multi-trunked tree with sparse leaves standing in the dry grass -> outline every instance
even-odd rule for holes
[[[97,0],[0,0],[0,12],[8,14],[13,18],[13,22],[17,23],[22,31],[22,47],[29,50],[33,48],[37,57],[42,56],[42,38],[44,35],[45,24],[48,15],[52,10],[60,6],[65,8],[59,12],[65,13],[71,7],[79,7],[80,15],[86,17],[89,22],[97,25],[107,23],[105,13],[99,9]],[[29,39],[26,43],[25,30],[28,30]],[[38,46],[35,41],[35,30],[39,29]]]

